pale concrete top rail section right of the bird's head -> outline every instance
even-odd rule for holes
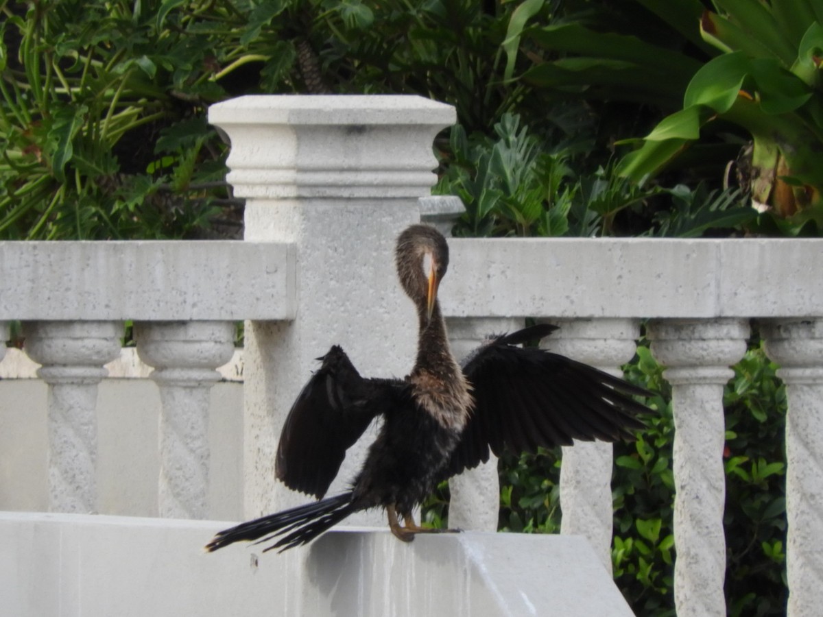
[[[823,239],[452,239],[449,317],[823,315]]]

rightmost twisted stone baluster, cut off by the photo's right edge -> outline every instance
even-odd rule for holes
[[[766,353],[786,384],[788,617],[823,605],[823,320],[768,322]]]

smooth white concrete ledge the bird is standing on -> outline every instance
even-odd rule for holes
[[[284,554],[202,552],[229,523],[0,513],[4,613],[632,615],[577,536],[464,533],[404,545],[332,531]]]

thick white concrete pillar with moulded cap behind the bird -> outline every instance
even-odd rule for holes
[[[247,517],[295,503],[274,481],[281,426],[316,358],[339,344],[360,373],[406,374],[416,312],[394,271],[397,235],[420,220],[435,183],[432,141],[452,107],[416,96],[245,96],[213,105],[231,141],[228,181],[245,197],[245,239],[297,249],[293,322],[245,331]],[[330,494],[345,490],[365,449],[351,448]],[[380,513],[350,522],[384,524]]]

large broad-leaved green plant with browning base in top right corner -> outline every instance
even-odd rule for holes
[[[700,20],[703,38],[723,55],[691,78],[682,109],[663,118],[621,173],[636,181],[658,174],[703,129],[732,123],[753,142],[753,202],[779,216],[802,211],[803,220],[823,220],[823,90],[820,15],[805,0],[714,2]],[[823,13],[823,11],[818,10]],[[802,222],[802,221],[799,221]]]

